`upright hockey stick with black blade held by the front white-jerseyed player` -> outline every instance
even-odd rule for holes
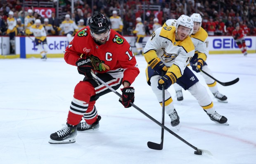
[[[162,73],[162,76],[164,76],[164,73]],[[165,110],[165,96],[164,96],[164,85],[162,86],[162,125],[164,126],[164,110]],[[154,142],[147,142],[147,146],[150,149],[154,150],[162,150],[164,145],[164,128],[161,128],[161,143],[154,143]]]

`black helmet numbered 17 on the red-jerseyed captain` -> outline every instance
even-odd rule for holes
[[[105,33],[110,30],[109,21],[101,13],[90,16],[88,24],[91,32],[95,34]]]

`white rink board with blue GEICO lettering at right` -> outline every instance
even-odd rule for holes
[[[247,36],[245,38],[245,44],[248,50],[256,50],[256,36]],[[239,50],[235,40],[231,36],[213,36],[208,37],[209,51],[231,51]]]

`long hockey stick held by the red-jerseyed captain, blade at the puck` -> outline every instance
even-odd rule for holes
[[[110,89],[112,92],[114,92],[117,96],[119,96],[120,98],[122,97],[121,94],[119,94],[115,89],[111,88],[107,83],[105,83],[104,81],[102,81],[99,77],[97,77],[94,73],[92,73],[92,77],[94,77],[96,80],[100,81],[102,84],[104,84],[104,86],[106,86],[108,89]],[[208,150],[203,150],[203,149],[199,149],[193,145],[191,145],[190,143],[188,143],[186,140],[184,140],[183,138],[181,138],[180,136],[178,136],[178,134],[175,134],[173,131],[171,131],[170,129],[168,129],[166,126],[162,125],[160,122],[158,122],[156,119],[154,119],[153,117],[151,117],[150,115],[148,115],[146,112],[144,112],[143,110],[141,110],[139,107],[137,107],[136,105],[134,105],[133,103],[130,102],[130,104],[137,109],[138,111],[140,111],[143,115],[145,115],[146,117],[148,117],[149,119],[151,119],[153,122],[155,122],[156,124],[158,124],[160,127],[164,128],[166,131],[168,131],[169,133],[171,133],[173,136],[175,136],[176,138],[178,138],[180,141],[184,142],[185,144],[189,145],[191,148],[193,148],[194,150],[194,154],[197,155],[201,155],[202,152],[208,154],[208,155],[212,155],[210,151]]]

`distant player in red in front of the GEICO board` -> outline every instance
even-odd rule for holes
[[[241,49],[244,56],[247,56],[247,46],[245,45],[244,30],[240,28],[239,23],[236,24],[235,29],[232,32],[235,42],[239,49]]]

